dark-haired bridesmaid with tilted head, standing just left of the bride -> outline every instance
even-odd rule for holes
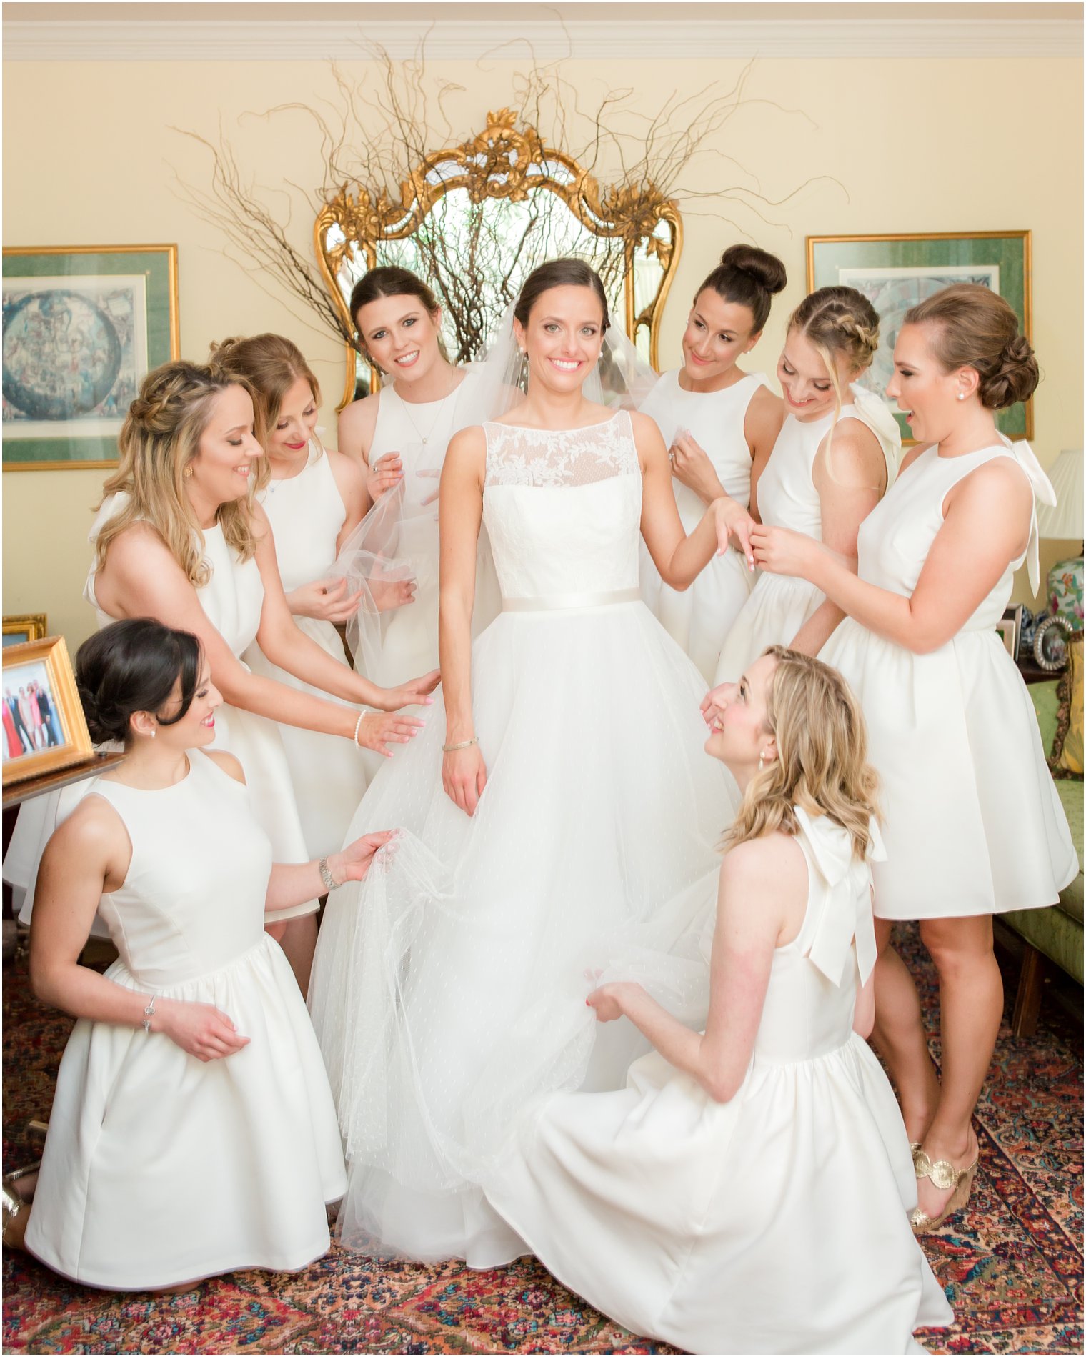
[[[437,665],[437,484],[449,438],[483,415],[476,380],[444,354],[441,308],[421,278],[407,269],[371,269],[354,286],[350,315],[386,380],[339,415],[339,451],[361,465],[372,505],[343,547],[348,589],[369,586],[375,571],[380,584],[415,585],[410,605],[361,613],[348,628],[356,668],[384,684],[388,674],[415,673],[413,665]],[[498,605],[489,560],[483,536],[476,634]]]

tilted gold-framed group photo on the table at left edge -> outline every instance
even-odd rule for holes
[[[4,650],[4,786],[94,757],[64,636]]]

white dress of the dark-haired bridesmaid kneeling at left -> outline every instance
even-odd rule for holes
[[[206,1064],[163,1033],[81,1018],[57,1076],[27,1248],[87,1286],[143,1291],[329,1247],[342,1196],[335,1107],[305,1004],[263,932],[272,868],[248,792],[193,750],[182,782],[95,779],[132,840],[102,897],[106,977],[214,1004],[250,1038]]]

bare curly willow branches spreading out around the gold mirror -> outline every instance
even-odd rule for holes
[[[301,247],[292,236],[291,223],[303,217],[303,204],[305,216],[314,209],[319,214],[331,205],[350,201],[350,195],[358,212],[365,209],[371,214],[369,221],[395,223],[407,217],[418,198],[419,167],[438,147],[455,144],[451,107],[455,96],[467,94],[463,85],[440,80],[428,71],[425,47],[424,38],[413,58],[394,62],[383,47],[369,45],[360,53],[368,57],[368,71],[361,79],[348,77],[331,64],[331,96],[319,100],[318,106],[292,102],[244,115],[270,123],[299,114],[318,134],[320,180],[308,190],[284,180],[285,187],[274,193],[278,199],[285,198],[285,212],[269,201],[273,190],[259,190],[243,178],[221,126],[216,142],[197,132],[174,129],[210,155],[206,187],[178,178],[182,197],[193,210],[221,229],[229,244],[240,251],[243,267],[262,285],[278,285],[308,308],[324,330],[356,349],[357,337],[345,307],[329,290],[310,252],[308,229]],[[486,62],[494,58],[508,61],[509,54],[495,49],[482,58],[478,69],[483,79]],[[753,62],[741,68],[729,90],[717,92],[715,85],[706,85],[683,95],[672,91],[652,114],[631,106],[635,92],[629,88],[604,90],[591,98],[582,87],[563,77],[561,65],[561,60],[540,65],[531,54],[527,65],[513,75],[510,106],[501,115],[490,114],[489,122],[501,117],[505,125],[533,138],[533,144],[563,153],[584,172],[582,182],[597,191],[597,198],[586,201],[595,201],[610,213],[608,233],[599,236],[593,259],[608,290],[620,290],[634,248],[657,252],[661,262],[669,258],[671,247],[650,239],[658,220],[653,209],[658,210],[658,205],[692,205],[707,198],[721,204],[722,199],[770,223],[766,210],[781,208],[816,182],[809,179],[783,197],[770,198],[762,193],[755,175],[713,145],[740,109],[768,104],[785,114],[797,111],[747,96]],[[686,187],[687,172],[706,155],[715,156],[717,170],[732,166],[733,175],[749,180],[753,187],[749,183],[719,185],[711,190]],[[483,187],[478,194],[470,191],[467,209],[462,204],[457,206],[460,214],[455,223],[443,210],[449,199],[440,197],[410,237],[414,262],[429,273],[445,304],[459,360],[479,356],[489,324],[512,300],[523,265],[547,258],[558,247],[554,216],[543,206],[546,194],[506,194],[509,201],[528,204],[510,236],[512,218],[506,217],[500,228],[485,210],[487,205],[493,209],[493,194],[485,186],[482,171],[479,182]],[[381,235],[383,229],[387,228],[375,232],[376,237],[390,240]],[[345,252],[349,250],[350,242],[343,247]]]

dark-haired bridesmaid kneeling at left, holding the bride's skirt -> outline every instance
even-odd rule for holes
[[[244,772],[214,738],[200,642],[129,619],[80,646],[91,735],[124,740],[54,832],[30,938],[37,996],[73,1014],[33,1205],[4,1242],[88,1286],[301,1267],[343,1191],[335,1110],[291,968],[263,928],[365,875],[390,835],[273,864]],[[119,953],[79,963],[99,911]]]

